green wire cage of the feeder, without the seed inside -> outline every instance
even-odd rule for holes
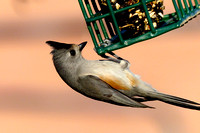
[[[137,0],[137,3],[114,9],[112,0],[78,0],[87,28],[92,37],[97,54],[105,53],[130,46],[134,43],[154,38],[158,35],[179,28],[192,18],[200,14],[199,0],[172,0],[174,13],[163,15],[160,20],[161,25],[154,26],[151,14],[148,10],[148,3],[155,0]],[[104,1],[103,8],[102,1]],[[115,0],[116,1],[116,0]],[[118,0],[119,1],[119,0]],[[130,0],[123,0],[130,1]],[[148,21],[149,30],[138,36],[126,37],[124,31],[119,26],[120,13],[137,8],[144,11]],[[106,10],[106,11],[105,11]],[[118,16],[117,16],[118,15]],[[123,18],[123,15],[121,15]]]

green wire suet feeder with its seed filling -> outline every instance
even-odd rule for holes
[[[78,0],[97,54],[103,55],[183,26],[200,14],[199,0]]]

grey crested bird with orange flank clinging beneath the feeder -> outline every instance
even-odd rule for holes
[[[148,101],[200,110],[200,104],[185,98],[164,94],[130,71],[124,59],[87,60],[82,50],[87,41],[68,44],[46,41],[52,47],[52,60],[57,73],[73,90],[94,100],[134,108],[155,108]]]

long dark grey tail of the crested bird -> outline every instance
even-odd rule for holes
[[[148,95],[150,96],[150,98],[160,100],[160,101],[168,103],[168,104],[172,104],[172,105],[175,105],[175,106],[188,108],[188,109],[200,110],[200,104],[193,102],[191,100],[187,100],[187,99],[184,99],[184,98],[160,93],[160,92],[157,92],[157,91],[149,92]]]

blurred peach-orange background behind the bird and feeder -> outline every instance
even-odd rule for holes
[[[173,12],[164,1],[165,14]],[[161,92],[200,102],[200,17],[157,38],[116,51]],[[200,113],[161,102],[156,109],[120,107],[86,98],[56,73],[47,40],[88,41],[99,59],[78,0],[0,1],[1,133],[199,133]]]

